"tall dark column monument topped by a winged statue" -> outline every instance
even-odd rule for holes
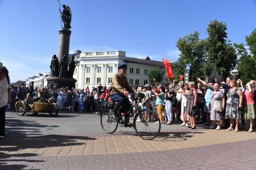
[[[48,87],[75,87],[76,80],[73,79],[73,72],[75,71],[74,57],[69,62],[69,41],[71,31],[72,13],[69,6],[62,5],[63,10],[60,10],[61,20],[64,26],[58,31],[60,38],[58,43],[58,58],[56,55],[52,56],[51,61],[51,77],[47,78]],[[61,25],[62,26],[62,25]]]

